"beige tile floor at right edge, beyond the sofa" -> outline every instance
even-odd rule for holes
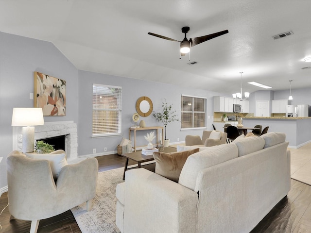
[[[311,143],[291,149],[291,178],[311,185]]]

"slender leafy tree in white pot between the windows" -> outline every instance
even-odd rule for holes
[[[162,102],[162,111],[158,112],[158,113],[153,111],[153,114],[152,114],[152,116],[154,116],[157,121],[164,124],[164,128],[165,128],[164,142],[163,142],[164,147],[168,147],[169,143],[170,143],[170,139],[166,139],[166,126],[167,126],[167,124],[172,122],[172,121],[179,121],[179,119],[177,118],[177,115],[176,115],[176,111],[172,110],[172,105],[168,105],[166,100],[165,100],[165,102]]]

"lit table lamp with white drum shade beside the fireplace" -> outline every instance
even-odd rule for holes
[[[35,125],[44,125],[42,108],[13,108],[12,126],[23,126],[23,153],[34,151]]]

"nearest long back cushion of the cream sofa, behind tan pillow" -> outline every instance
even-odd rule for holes
[[[207,167],[223,163],[238,157],[238,148],[235,144],[222,144],[209,147],[188,157],[181,170],[179,181],[181,185],[194,190],[198,173]]]

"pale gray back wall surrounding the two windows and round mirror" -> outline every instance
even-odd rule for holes
[[[115,137],[99,137],[91,138],[92,135],[92,85],[106,84],[117,85],[122,87],[122,122],[121,122],[121,136]],[[154,111],[161,110],[162,101],[173,104],[173,109],[176,110],[180,118],[181,110],[181,94],[193,95],[207,98],[207,128],[212,129],[213,122],[213,96],[221,95],[220,93],[207,92],[206,90],[195,90],[189,88],[183,88],[177,85],[147,82],[142,80],[98,74],[87,71],[79,71],[79,155],[90,155],[92,149],[95,148],[97,153],[104,153],[104,148],[107,148],[106,153],[111,153],[117,150],[117,145],[120,143],[121,138],[129,138],[128,129],[133,126],[135,122],[132,120],[132,115],[136,113],[136,101],[141,96],[149,97],[154,106]],[[139,116],[139,121],[144,120],[146,126],[163,126],[157,122],[155,118],[150,115],[148,117]],[[138,121],[138,123],[139,123]],[[180,141],[185,140],[187,134],[199,134],[202,130],[181,131],[180,122],[172,122],[167,126],[167,139],[170,139],[171,143],[177,142],[177,138]],[[137,144],[147,145],[143,135],[149,132],[141,131],[137,132]],[[133,133],[132,138],[133,140]]]

